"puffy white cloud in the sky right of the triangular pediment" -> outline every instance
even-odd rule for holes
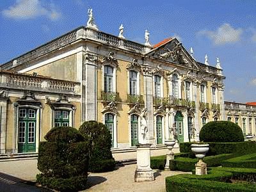
[[[228,23],[223,24],[216,31],[204,30],[198,32],[199,35],[208,36],[216,45],[238,42],[242,33],[243,29],[235,29]]]

